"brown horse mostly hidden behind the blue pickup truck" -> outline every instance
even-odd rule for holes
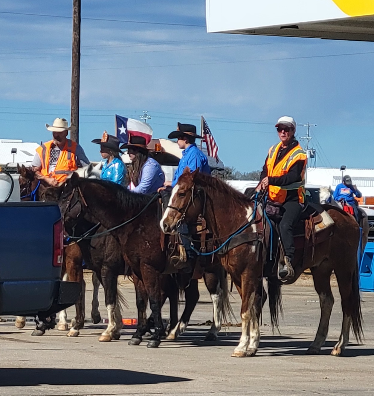
[[[51,190],[51,186],[43,180],[39,180],[36,178],[34,171],[31,168],[27,168],[24,165],[17,165],[17,170],[19,173],[19,186],[21,190],[21,199],[24,201],[45,201],[50,200],[45,194]],[[52,198],[52,200],[54,200]],[[84,317],[85,317],[85,305],[84,305],[84,295],[86,289],[86,283],[83,279],[83,267],[82,267],[83,259],[82,253],[78,245],[69,245],[65,247],[64,250],[64,258],[63,258],[63,266],[61,269],[61,275],[64,277],[63,279],[69,280],[71,282],[79,282],[82,287],[82,291],[80,293],[80,298],[76,302],[76,317],[71,321],[71,330],[67,333],[68,337],[75,337],[79,334],[79,329],[84,327]],[[93,297],[92,297],[92,310],[91,310],[91,318],[92,323],[96,324],[101,321],[101,315],[99,312],[99,300],[98,300],[98,292],[99,292],[99,280],[97,279],[96,274],[93,272],[92,274],[92,283],[93,283]],[[66,310],[63,310],[59,314],[59,324],[57,329],[60,331],[64,331],[68,329],[68,325],[66,322]],[[25,327],[26,321],[25,317],[17,316],[15,321],[15,326],[18,328]],[[45,325],[45,324],[44,324]],[[34,330],[33,335],[43,335],[46,330],[46,326],[38,326],[36,330]]]

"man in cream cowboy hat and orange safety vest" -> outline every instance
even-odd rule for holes
[[[88,165],[90,161],[80,145],[67,139],[71,128],[65,118],[56,118],[52,125],[46,124],[46,127],[52,131],[53,139],[36,149],[31,166],[38,179],[55,186],[65,181],[78,166]]]

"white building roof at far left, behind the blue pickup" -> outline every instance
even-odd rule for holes
[[[0,164],[5,165],[10,162],[32,162],[35,155],[35,149],[39,146],[35,142],[23,142],[18,139],[0,139]],[[12,148],[15,148],[17,152],[11,154]]]

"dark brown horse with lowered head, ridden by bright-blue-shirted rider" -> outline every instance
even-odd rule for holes
[[[71,225],[75,224],[75,226],[81,224],[82,221],[90,224],[99,222],[103,228],[111,229],[135,217],[133,221],[111,230],[110,233],[118,242],[119,251],[132,270],[135,284],[138,327],[129,344],[138,345],[147,331],[146,307],[149,300],[155,333],[153,333],[148,346],[158,346],[160,337],[164,333],[160,310],[165,300],[165,295],[163,295],[165,276],[162,276],[162,272],[165,269],[166,254],[160,245],[157,203],[151,196],[134,194],[114,183],[80,179],[73,175],[63,191],[60,207],[65,220],[72,221]],[[113,252],[114,249],[114,246],[113,248],[105,247],[104,254],[106,251]],[[218,278],[216,284],[209,280],[208,275],[205,277],[207,286],[211,285],[210,288],[208,287],[211,294],[217,294],[216,300],[222,300],[224,296],[227,297],[227,288],[225,290],[224,287],[225,282],[227,285],[227,280],[223,272],[220,271],[220,273],[223,276],[220,277],[219,274],[216,274],[216,279]],[[214,280],[214,274],[211,278]],[[191,281],[185,288],[185,312],[181,321],[172,329],[171,338],[183,332],[187,326],[198,299],[198,291],[196,298],[194,290],[197,291],[197,281]],[[195,299],[193,295],[195,295]],[[216,318],[218,318],[221,316],[221,308],[227,307],[227,304],[217,301],[214,307],[218,310],[216,312]],[[108,310],[111,309],[113,308],[108,307]],[[215,321],[214,326],[216,330],[219,330],[221,323]],[[214,339],[215,337],[214,331],[214,334],[211,333],[208,338]]]

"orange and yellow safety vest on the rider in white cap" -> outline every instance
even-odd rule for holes
[[[275,165],[279,148],[282,142],[274,145],[269,150],[269,155],[266,160],[267,176],[279,177],[285,175],[297,161],[304,161],[303,171],[301,172],[301,181],[292,183],[288,186],[271,186],[269,185],[269,200],[283,204],[286,200],[288,190],[298,190],[299,202],[301,204],[305,201],[305,168],[307,165],[307,154],[301,148],[300,144],[290,150],[279,162]]]

